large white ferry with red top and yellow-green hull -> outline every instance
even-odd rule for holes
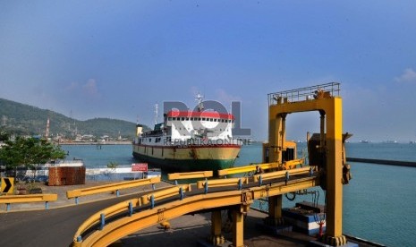
[[[233,139],[233,115],[204,111],[198,99],[195,111],[170,110],[154,130],[143,132],[137,124],[134,158],[177,172],[233,167],[242,147],[242,141]]]

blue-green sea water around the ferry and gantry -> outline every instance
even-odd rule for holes
[[[106,167],[110,162],[131,165],[131,145],[64,145],[68,159],[82,158],[87,168]],[[306,144],[298,144],[298,158]],[[261,143],[243,146],[235,166],[261,162]],[[416,161],[416,145],[407,143],[346,143],[347,157]],[[352,180],[344,185],[343,232],[387,246],[416,246],[416,167],[351,162]],[[310,191],[324,192],[315,187]],[[311,201],[312,195],[284,197],[284,207]]]

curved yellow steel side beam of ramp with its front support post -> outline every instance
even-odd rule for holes
[[[233,217],[236,219],[233,221],[233,246],[241,247],[243,246],[242,214],[250,208],[249,206],[253,200],[265,198],[267,196],[281,195],[286,192],[308,189],[317,185],[317,177],[312,176],[295,179],[293,181],[289,181],[288,183],[273,183],[268,184],[267,186],[263,185],[251,187],[250,189],[242,191],[212,192],[189,196],[183,200],[175,200],[157,206],[153,209],[136,212],[131,217],[122,217],[117,219],[114,222],[106,224],[102,230],[97,230],[89,234],[89,236],[81,242],[76,240],[77,236],[81,233],[81,231],[78,231],[77,234],[75,234],[72,246],[107,246],[124,236],[133,234],[141,229],[157,225],[175,217],[181,217],[183,215],[204,209],[218,209],[227,206],[236,206],[236,209],[239,210],[233,210]],[[238,206],[240,207],[238,208]],[[125,204],[121,205],[121,207],[125,208]],[[118,206],[115,208],[119,209]],[[86,222],[84,223],[85,225],[82,226],[91,225],[93,222],[94,220]],[[217,223],[218,222],[216,222],[216,226]],[[84,228],[83,230],[85,231],[86,229]],[[214,234],[220,235],[218,226],[214,230]]]

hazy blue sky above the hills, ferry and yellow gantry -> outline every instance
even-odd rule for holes
[[[200,92],[266,140],[267,93],[331,81],[352,141],[416,141],[416,1],[0,1],[0,98],[80,120]]]

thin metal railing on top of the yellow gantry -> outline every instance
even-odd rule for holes
[[[276,105],[281,100],[287,102],[297,102],[310,100],[317,97],[319,91],[329,92],[331,97],[339,96],[340,93],[340,83],[330,82],[327,84],[320,84],[317,86],[286,90],[276,93],[267,94],[268,106]]]

